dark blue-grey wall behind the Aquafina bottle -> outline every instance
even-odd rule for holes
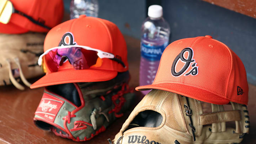
[[[247,16],[254,11],[242,3],[246,2],[250,5],[250,1],[244,0],[237,4],[240,7],[244,6],[244,13],[247,15],[235,12],[240,10],[235,6],[229,10],[214,5],[214,2],[210,2],[211,0],[206,1],[208,2],[202,0],[98,0],[98,17],[116,23],[123,34],[139,39],[140,27],[147,17],[148,6],[159,4],[163,7],[163,16],[171,27],[170,42],[181,38],[211,35],[214,39],[225,43],[241,58],[245,65],[248,82],[256,85],[256,19]],[[226,1],[230,0],[223,0],[223,3]],[[64,3],[65,11],[69,12],[70,0],[64,0]],[[230,5],[232,4],[231,2]]]

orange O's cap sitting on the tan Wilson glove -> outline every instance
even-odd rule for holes
[[[136,90],[159,89],[200,101],[247,105],[248,84],[240,58],[211,36],[185,38],[164,50],[153,84]]]

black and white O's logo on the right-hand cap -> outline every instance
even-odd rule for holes
[[[188,52],[188,57],[187,59],[184,58],[185,52]],[[172,63],[172,68],[171,68],[171,73],[173,76],[178,77],[181,76],[182,74],[186,73],[187,69],[189,68],[190,64],[192,62],[194,62],[191,66],[192,69],[185,74],[185,76],[187,75],[197,75],[198,74],[198,66],[196,61],[193,59],[194,53],[193,53],[193,49],[191,48],[184,48],[183,50],[181,50],[181,53],[177,55],[177,57],[174,59],[174,62]],[[182,69],[178,72],[176,72],[176,66],[178,64],[178,61],[181,60],[181,62],[185,63],[185,65],[182,67]]]

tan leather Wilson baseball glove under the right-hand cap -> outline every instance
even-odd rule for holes
[[[134,108],[113,144],[237,144],[249,133],[246,105],[232,109],[212,105],[203,113],[201,101],[168,91],[152,90]],[[234,128],[226,122],[235,122]]]

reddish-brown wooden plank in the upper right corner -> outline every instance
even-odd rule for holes
[[[255,0],[203,0],[226,9],[256,18]]]

